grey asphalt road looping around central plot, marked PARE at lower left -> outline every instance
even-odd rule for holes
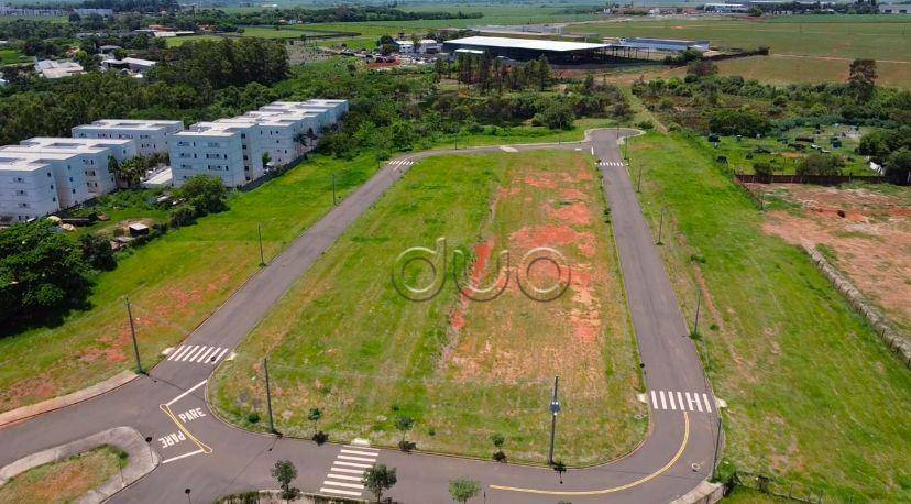
[[[582,150],[601,160],[624,284],[649,387],[651,421],[647,439],[619,460],[570,470],[563,475],[562,483],[549,469],[369,450],[377,453],[372,457],[377,462],[397,468],[399,482],[389,493],[394,498],[405,503],[450,502],[449,480],[468,476],[483,483],[490,503],[556,503],[561,500],[658,503],[689,492],[709,475],[716,445],[715,402],[694,346],[687,337],[687,324],[654,244],[651,230],[643,218],[622,163],[617,139],[629,134],[634,132],[596,130],[581,143],[517,145],[515,149]],[[194,331],[185,344],[237,347],[348,226],[405,175],[408,165],[402,161],[496,151],[501,147],[424,152],[387,164],[252,277]],[[344,447],[317,447],[305,440],[277,439],[222,423],[210,413],[206,403],[206,380],[213,369],[215,365],[205,362],[164,360],[149,376],[108,394],[7,426],[0,429],[0,467],[110,427],[131,426],[151,438],[150,450],[155,450],[164,462],[114,495],[112,502],[184,502],[185,489],[190,489],[193,502],[211,502],[231,492],[274,487],[268,471],[277,459],[295,462],[299,471],[297,486],[319,492]]]

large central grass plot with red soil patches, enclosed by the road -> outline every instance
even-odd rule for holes
[[[421,161],[220,368],[213,405],[232,423],[264,428],[250,415],[265,418],[268,357],[276,428],[286,435],[309,437],[317,426],[307,414],[318,407],[330,439],[395,446],[396,418],[407,416],[419,450],[489,458],[491,436],[502,434],[509,460],[542,463],[559,375],[559,456],[588,464],[628,452],[647,417],[635,399],[636,347],[604,205],[592,160],[575,152]],[[571,285],[542,303],[511,278],[502,296],[472,302],[450,278],[431,300],[405,299],[389,280],[396,258],[438,237],[450,251],[447,274],[497,285],[501,250],[517,264],[548,244],[567,258]],[[452,259],[457,250],[471,264]],[[555,273],[544,264],[533,282]]]

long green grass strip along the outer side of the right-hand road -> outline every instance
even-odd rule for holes
[[[657,226],[668,210],[663,250],[689,317],[696,283],[706,289],[700,347],[729,406],[726,467],[826,498],[911,500],[908,369],[802,251],[762,232],[709,149],[649,133],[632,153],[646,215]]]

